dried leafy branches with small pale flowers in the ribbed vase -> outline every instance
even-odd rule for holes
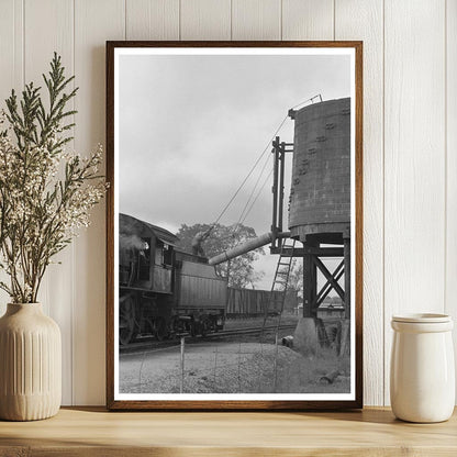
[[[74,77],[65,77],[54,53],[44,105],[41,88],[25,86],[22,99],[14,90],[0,114],[0,269],[11,283],[0,282],[14,303],[36,302],[52,258],[89,225],[90,210],[105,192],[99,174],[101,146],[88,158],[68,154],[64,136],[76,113],[66,110],[77,89],[65,92]]]

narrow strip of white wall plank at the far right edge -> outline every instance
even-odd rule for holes
[[[457,0],[446,2],[446,305],[457,354]],[[457,359],[456,359],[457,364]],[[457,365],[456,365],[457,369]],[[456,386],[457,392],[457,386]]]

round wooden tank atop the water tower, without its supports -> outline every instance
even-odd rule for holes
[[[350,233],[350,98],[291,111],[291,236],[342,243]]]

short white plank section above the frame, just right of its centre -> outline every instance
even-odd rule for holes
[[[232,40],[281,40],[281,1],[232,0]]]

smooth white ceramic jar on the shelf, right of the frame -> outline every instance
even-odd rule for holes
[[[445,314],[392,317],[390,402],[398,419],[442,422],[453,414],[453,320]]]

